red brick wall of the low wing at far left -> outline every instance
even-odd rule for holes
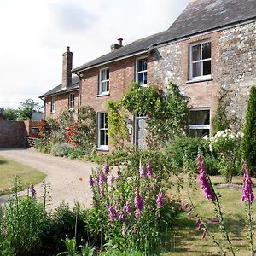
[[[75,109],[77,109],[79,106],[79,91],[76,90],[73,93],[74,93],[74,106],[75,106]],[[55,118],[55,117],[58,117],[61,112],[68,110],[69,93],[64,93],[64,94],[55,96],[56,113],[50,112],[51,98],[52,98],[51,96],[45,97],[45,103],[44,103],[45,117]]]

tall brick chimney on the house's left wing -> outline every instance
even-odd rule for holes
[[[67,52],[62,55],[62,83],[61,89],[66,89],[72,83],[72,58],[73,53],[69,51],[69,46],[67,46]]]

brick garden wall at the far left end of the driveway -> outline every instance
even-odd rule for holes
[[[26,147],[25,122],[0,119],[0,147]]]

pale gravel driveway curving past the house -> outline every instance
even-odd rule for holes
[[[96,168],[96,164],[43,154],[32,148],[0,148],[0,155],[36,168],[47,175],[45,180],[51,188],[48,209],[54,209],[61,201],[67,201],[71,207],[75,201],[90,207],[91,191],[88,179],[91,168]],[[41,185],[42,183],[35,186],[38,197],[42,193]],[[4,197],[0,198],[0,201],[4,200]]]

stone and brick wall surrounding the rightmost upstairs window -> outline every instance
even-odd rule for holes
[[[189,44],[212,42],[212,79],[189,82]],[[150,76],[150,73],[148,74]],[[230,98],[230,115],[243,123],[250,88],[256,84],[256,22],[167,44],[154,50],[151,76],[155,83],[179,85],[189,97],[190,108],[210,108],[211,120],[218,108],[220,88]]]

